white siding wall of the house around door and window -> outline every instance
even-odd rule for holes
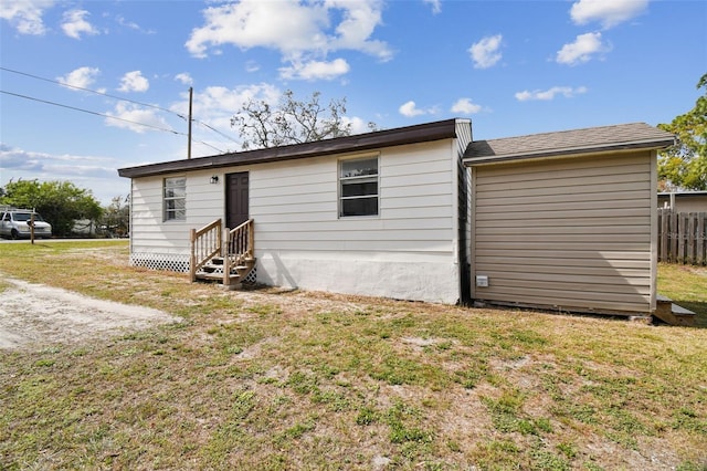
[[[224,175],[250,171],[260,282],[455,303],[460,299],[454,139],[379,153],[191,172],[187,221],[162,222],[162,177],[133,184],[131,253],[187,255],[189,229],[224,216]],[[378,217],[338,217],[338,161],[379,156]],[[210,185],[211,175],[219,176]]]

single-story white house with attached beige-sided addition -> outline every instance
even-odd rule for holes
[[[123,168],[130,262],[193,273],[192,230],[223,221],[250,224],[265,284],[650,313],[656,153],[673,143],[642,123],[474,140],[447,119]]]

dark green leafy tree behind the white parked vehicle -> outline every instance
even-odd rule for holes
[[[59,237],[71,234],[75,220],[97,220],[103,213],[91,190],[78,188],[70,181],[10,181],[4,186],[0,202],[18,208],[34,208],[52,224],[52,232]]]

